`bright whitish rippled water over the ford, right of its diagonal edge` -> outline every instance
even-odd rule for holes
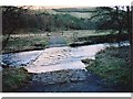
[[[47,48],[37,61],[25,67],[30,73],[45,73],[61,69],[85,69],[81,62],[83,58],[92,58],[98,52],[104,50],[103,44],[80,47],[51,47]]]

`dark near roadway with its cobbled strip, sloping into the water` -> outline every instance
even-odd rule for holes
[[[50,77],[50,74],[52,74],[51,76],[52,78]],[[62,74],[62,76],[60,76],[60,74]],[[45,79],[49,81],[45,81]],[[31,82],[25,84],[22,88],[17,90],[17,92],[101,92],[101,91],[112,92],[124,90],[119,86],[111,86],[110,84],[106,84],[106,81],[104,81],[101,77],[94,75],[93,73],[90,72],[84,73],[84,70],[68,70],[68,72],[62,70],[61,73],[52,72],[40,75],[38,74],[34,75]]]

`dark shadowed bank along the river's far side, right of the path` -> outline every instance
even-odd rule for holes
[[[78,37],[70,46],[82,46],[99,43],[117,43],[120,41],[127,41],[129,34],[104,34],[104,35],[89,35]]]

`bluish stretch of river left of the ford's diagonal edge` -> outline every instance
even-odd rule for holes
[[[9,66],[27,66],[34,61],[43,51],[29,51],[20,53],[9,53],[2,55],[2,62]]]

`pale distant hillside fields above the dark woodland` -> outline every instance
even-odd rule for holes
[[[70,14],[78,19],[90,19],[95,8],[60,8],[60,9],[38,9],[35,13],[49,13],[49,14]]]

